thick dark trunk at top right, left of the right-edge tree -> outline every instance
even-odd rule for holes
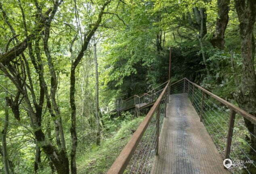
[[[211,39],[212,46],[224,49],[224,34],[229,23],[229,3],[230,0],[218,0],[218,18],[216,31]]]

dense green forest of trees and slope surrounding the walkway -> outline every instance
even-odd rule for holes
[[[166,82],[170,47],[172,82],[255,116],[255,16],[255,0],[0,0],[0,174],[106,172],[143,117],[101,108]]]

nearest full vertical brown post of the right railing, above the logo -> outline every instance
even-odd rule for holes
[[[231,108],[230,118],[229,118],[229,132],[228,132],[228,136],[227,136],[227,147],[226,147],[226,151],[225,151],[225,159],[229,158],[229,154],[230,154],[232,137],[233,137],[233,128],[234,128],[234,123],[235,123],[235,114],[236,114],[236,112]]]

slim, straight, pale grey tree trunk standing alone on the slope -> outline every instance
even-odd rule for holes
[[[97,145],[101,142],[101,124],[99,118],[99,74],[98,74],[98,62],[97,62],[97,49],[95,42],[95,35],[93,37],[93,56],[95,63],[95,117],[96,117],[96,125],[97,125]]]

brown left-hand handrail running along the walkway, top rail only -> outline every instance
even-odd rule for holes
[[[130,141],[126,144],[124,149],[121,151],[118,158],[116,158],[115,162],[112,164],[107,174],[122,174],[124,172],[126,166],[128,165],[128,162],[132,158],[133,152],[135,151],[138,143],[141,140],[141,137],[143,136],[143,133],[147,129],[149,122],[151,121],[154,113],[157,111],[157,107],[159,106],[160,102],[164,98],[164,94],[168,90],[169,83],[170,81],[168,81],[164,90],[162,91],[162,93],[160,94],[160,96],[157,98],[152,108],[150,109],[149,113],[147,113],[145,119],[138,126],[138,129],[136,129]]]

